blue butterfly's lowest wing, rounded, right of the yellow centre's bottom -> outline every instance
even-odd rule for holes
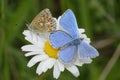
[[[63,50],[60,50],[58,56],[59,59],[62,60],[62,62],[68,63],[73,60],[76,53],[77,53],[76,46],[69,46]]]

